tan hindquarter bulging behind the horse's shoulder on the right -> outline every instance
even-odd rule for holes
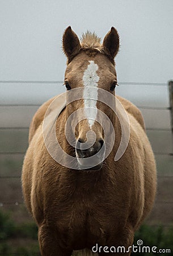
[[[142,128],[145,130],[145,123],[144,118],[142,117],[141,111],[135,106],[132,102],[126,100],[123,97],[117,96],[116,98],[121,102],[121,104],[124,106],[126,112],[133,115],[133,117],[137,120],[138,123],[142,126]]]

